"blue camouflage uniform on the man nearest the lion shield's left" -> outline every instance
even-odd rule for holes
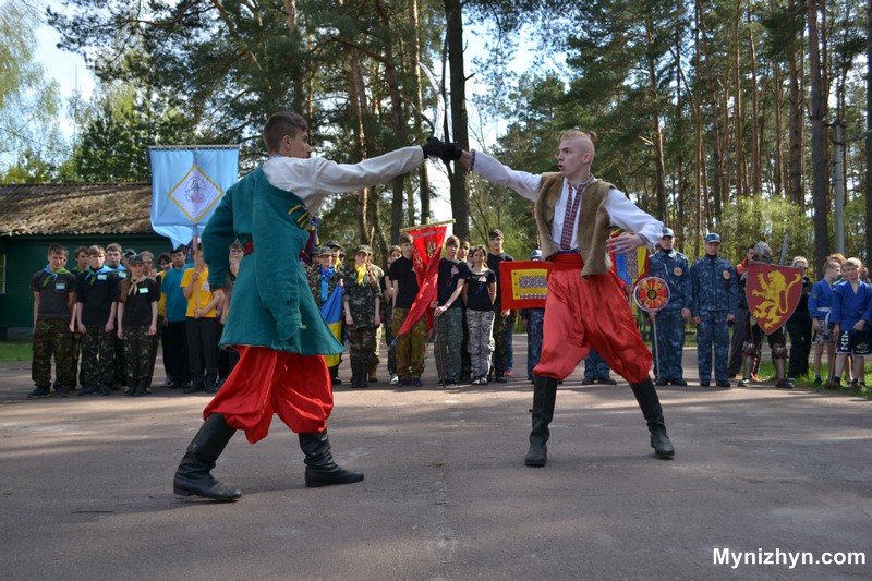
[[[703,256],[690,267],[692,281],[691,315],[700,317],[697,325],[697,363],[700,382],[712,378],[712,347],[714,346],[715,380],[728,383],[729,361],[728,314],[738,304],[736,269],[719,256]]]

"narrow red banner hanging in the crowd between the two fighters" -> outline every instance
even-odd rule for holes
[[[412,263],[417,276],[417,296],[397,335],[409,332],[424,315],[427,316],[427,330],[433,328],[433,311],[431,311],[429,304],[436,300],[439,258],[443,255],[443,242],[445,242],[447,231],[447,226],[422,226],[417,230],[408,232],[414,241]]]

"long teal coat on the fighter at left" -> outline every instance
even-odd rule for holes
[[[308,290],[300,251],[308,240],[308,210],[293,193],[267,181],[263,168],[225,194],[203,232],[209,286],[225,287],[234,240],[254,244],[242,258],[221,346],[259,346],[302,355],[344,351]]]

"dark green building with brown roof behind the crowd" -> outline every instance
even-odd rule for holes
[[[152,184],[0,185],[0,341],[29,337],[33,329],[31,277],[46,263],[51,244],[70,251],[116,242],[155,258],[169,239],[152,228]]]

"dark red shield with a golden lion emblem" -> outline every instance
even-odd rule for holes
[[[744,296],[751,316],[766,335],[780,329],[797,310],[802,292],[802,269],[750,263]]]

